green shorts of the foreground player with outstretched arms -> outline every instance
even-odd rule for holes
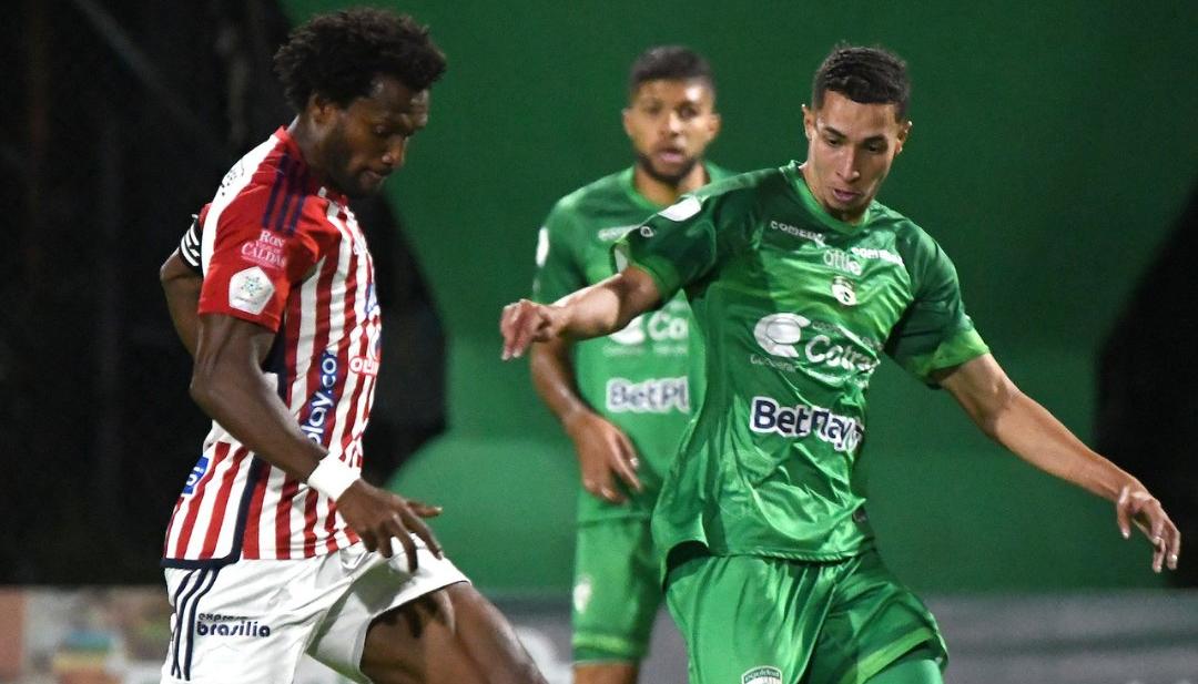
[[[948,661],[936,619],[873,550],[837,563],[688,553],[666,604],[691,684],[860,684],[914,649]]]

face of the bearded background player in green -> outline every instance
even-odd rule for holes
[[[624,109],[636,163],[651,177],[677,186],[720,131],[714,108],[712,89],[702,80],[642,83]]]

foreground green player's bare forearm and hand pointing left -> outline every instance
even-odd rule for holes
[[[611,334],[660,302],[657,283],[636,266],[567,295],[553,304],[520,299],[504,307],[500,316],[502,357],[507,361],[524,356],[534,341]]]

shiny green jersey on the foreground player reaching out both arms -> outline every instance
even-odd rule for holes
[[[657,544],[800,561],[870,547],[853,472],[883,352],[933,383],[987,351],[936,241],[878,202],[836,220],[792,163],[683,198],[629,232],[621,258],[662,297],[686,292],[706,352]]]

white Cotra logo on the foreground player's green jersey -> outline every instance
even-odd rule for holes
[[[855,303],[855,295],[853,297]],[[803,343],[803,331],[807,328],[816,334]],[[754,338],[761,349],[770,356],[805,359],[810,363],[854,373],[872,373],[878,367],[879,361],[876,356],[858,351],[852,346],[853,343],[834,341],[833,334],[845,335],[846,333],[837,326],[787,313],[770,314],[754,326]],[[853,341],[857,341],[855,338]],[[863,341],[861,344],[869,343]],[[798,370],[795,363],[775,362],[757,355],[750,355],[749,361],[756,365],[769,365],[780,370]]]

